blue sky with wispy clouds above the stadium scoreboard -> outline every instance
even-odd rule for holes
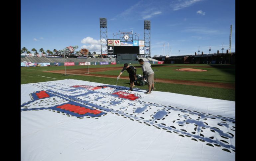
[[[225,52],[232,25],[235,52],[235,0],[21,0],[21,48],[77,45],[100,53],[99,18],[107,18],[108,39],[119,31],[144,39],[144,20],[150,20],[151,56],[192,55],[198,46],[217,53],[222,43]]]

